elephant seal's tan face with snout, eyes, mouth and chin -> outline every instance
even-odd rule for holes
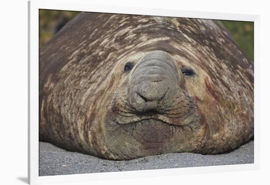
[[[197,106],[196,91],[203,88],[197,72],[165,51],[137,56],[121,65],[122,80],[108,102],[104,142],[109,157],[194,152],[207,133]]]

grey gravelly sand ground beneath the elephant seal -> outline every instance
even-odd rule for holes
[[[100,173],[194,166],[246,164],[254,162],[254,141],[218,155],[192,153],[162,154],[130,161],[111,161],[69,152],[47,142],[39,142],[39,176]]]

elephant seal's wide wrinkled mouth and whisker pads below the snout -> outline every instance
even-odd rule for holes
[[[124,94],[124,93],[123,93]],[[138,112],[133,108],[125,95],[114,95],[110,104],[109,117],[118,125],[136,124],[141,121],[153,120],[169,126],[189,126],[199,124],[200,115],[196,103],[188,96],[177,98],[171,103],[162,103],[154,110]],[[152,122],[153,122],[152,121]]]

